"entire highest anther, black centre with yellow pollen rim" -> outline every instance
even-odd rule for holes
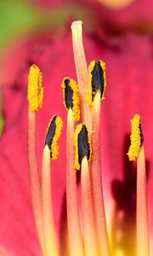
[[[101,101],[105,99],[106,75],[105,62],[91,61],[88,67],[89,90],[87,94],[88,104],[92,105],[96,92],[100,91]]]

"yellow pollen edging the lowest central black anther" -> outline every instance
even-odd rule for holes
[[[77,128],[75,130],[75,133],[74,133],[74,144],[75,144],[75,148],[76,148],[76,154],[75,154],[75,168],[77,170],[80,170],[81,166],[80,166],[80,163],[79,163],[79,148],[78,148],[78,136],[80,134],[80,132],[82,131],[82,126],[85,125],[85,124],[79,124],[77,125]],[[88,131],[88,127],[86,125],[86,128],[87,128],[87,131]],[[91,154],[92,154],[92,148],[91,148],[91,143],[90,143],[90,139],[89,139],[89,136],[88,136],[88,145],[89,145],[89,151],[90,151],[90,155],[89,155],[89,160],[91,160]]]

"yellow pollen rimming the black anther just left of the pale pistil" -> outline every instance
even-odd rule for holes
[[[79,95],[78,85],[75,80],[70,79],[69,77],[65,77],[65,79],[70,80],[69,86],[71,87],[71,90],[73,91],[73,96],[72,96],[73,119],[74,119],[74,121],[78,121],[80,119],[80,95]],[[65,108],[68,109],[66,106],[66,103],[65,103],[65,79],[63,79],[61,87],[63,89]]]

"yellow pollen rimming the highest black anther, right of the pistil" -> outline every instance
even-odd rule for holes
[[[103,101],[105,99],[105,88],[106,88],[106,74],[105,74],[105,62],[103,61],[99,61],[100,66],[103,70],[103,76],[104,76],[104,90],[103,90],[103,94],[101,96],[101,101]],[[88,66],[88,84],[89,84],[89,89],[87,91],[87,102],[88,105],[93,105],[93,94],[95,96],[96,92],[93,91],[93,87],[92,87],[92,79],[93,79],[93,70],[95,67],[95,61],[91,61],[89,66]],[[100,84],[98,84],[99,89],[100,89]]]

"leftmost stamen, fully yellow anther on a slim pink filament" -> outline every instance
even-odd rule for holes
[[[39,89],[40,90],[39,90]],[[28,166],[29,178],[31,186],[31,204],[35,224],[37,228],[37,236],[40,241],[42,253],[45,255],[44,241],[43,241],[43,228],[42,228],[42,199],[41,199],[41,185],[38,176],[37,165],[37,146],[36,146],[36,113],[42,107],[42,73],[36,65],[33,65],[29,73],[28,83]],[[40,95],[39,95],[40,92]],[[36,99],[34,98],[36,96]],[[41,100],[40,100],[41,99]]]

